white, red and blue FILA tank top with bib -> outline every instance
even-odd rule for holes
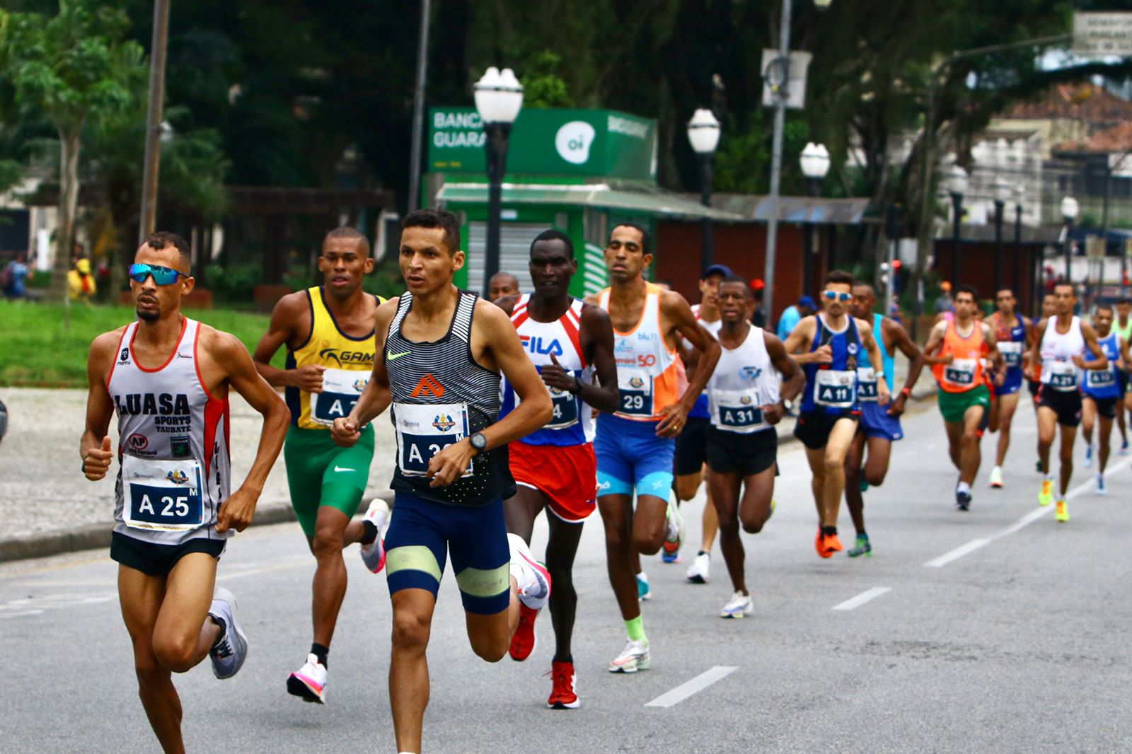
[[[528,306],[531,294],[523,293],[512,309],[511,322],[515,325],[523,350],[541,372],[542,367],[554,363],[551,354],[559,366],[583,384],[593,383],[593,365],[585,362],[582,353],[582,301],[574,302],[566,312],[555,322],[535,322],[531,318]],[[593,409],[573,393],[550,391],[555,413],[542,429],[538,429],[523,442],[528,445],[582,445],[593,442]],[[499,418],[515,410],[520,404],[514,388],[503,380],[503,409]]]

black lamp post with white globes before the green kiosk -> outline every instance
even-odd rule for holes
[[[523,108],[523,85],[512,69],[500,71],[491,66],[475,82],[474,92],[475,110],[483,121],[488,152],[488,233],[483,259],[483,293],[487,294],[488,281],[499,272],[499,213],[503,208],[503,177],[507,169],[507,137]]]

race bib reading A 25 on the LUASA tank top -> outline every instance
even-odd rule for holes
[[[122,520],[131,529],[192,531],[204,525],[200,464],[122,456]]]

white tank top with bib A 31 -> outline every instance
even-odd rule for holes
[[[738,348],[722,348],[715,371],[707,380],[711,423],[717,429],[744,435],[773,429],[763,420],[761,406],[778,401],[778,370],[766,352],[763,328],[752,325]]]

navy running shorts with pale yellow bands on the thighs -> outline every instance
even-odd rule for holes
[[[503,499],[466,507],[397,492],[385,532],[389,597],[402,589],[423,589],[435,598],[449,552],[465,611],[495,615],[508,608],[511,547]]]

